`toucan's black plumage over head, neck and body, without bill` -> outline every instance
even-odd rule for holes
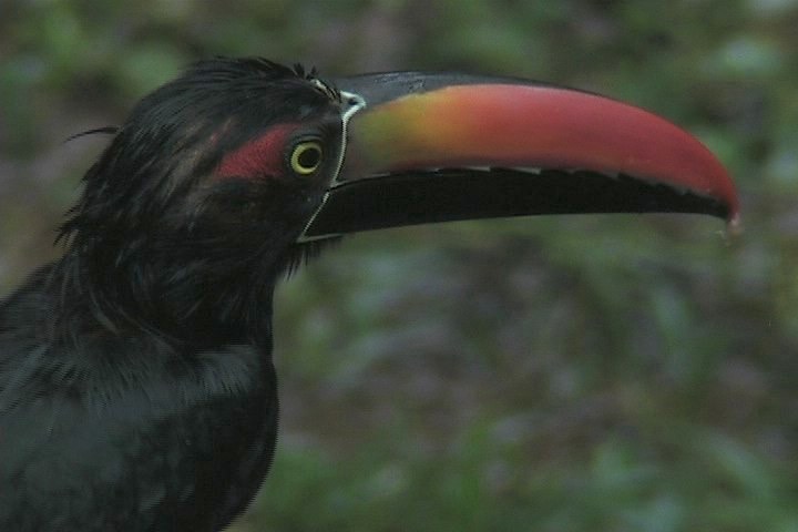
[[[275,446],[273,290],[339,163],[337,94],[212,60],[115,132],[63,257],[0,304],[0,529],[213,531],[243,511]],[[283,124],[269,175],[235,175]],[[307,139],[324,160],[299,175]]]

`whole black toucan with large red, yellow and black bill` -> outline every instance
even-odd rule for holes
[[[198,61],[134,105],[0,303],[0,530],[218,531],[278,423],[273,295],[345,235],[422,223],[673,212],[736,225],[698,140],[518,78],[323,78]]]

